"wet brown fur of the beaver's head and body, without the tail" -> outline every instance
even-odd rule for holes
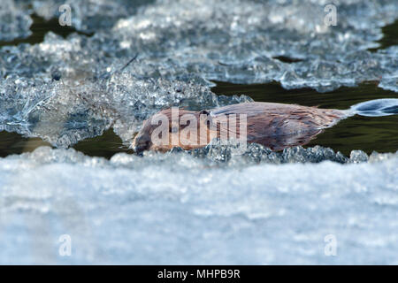
[[[157,125],[151,125],[150,119],[157,118],[159,114],[165,115],[170,121],[170,142],[163,146],[153,144],[150,138],[154,128],[157,127]],[[166,151],[174,146],[180,146],[182,149],[195,149],[206,146],[216,137],[236,136],[239,139],[239,115],[246,114],[247,142],[256,142],[274,150],[281,150],[310,142],[323,129],[333,126],[340,119],[346,117],[345,111],[282,103],[239,103],[202,112],[180,110],[178,120],[180,121],[185,114],[192,114],[197,120],[197,144],[184,145],[180,142],[181,135],[176,137],[175,134],[178,135],[188,125],[172,122],[172,110],[166,109],[144,121],[141,131],[134,138],[134,148],[137,151],[145,149]],[[232,133],[227,126],[220,126],[220,123],[229,123],[231,117],[236,117],[233,114],[238,115],[236,133]],[[223,122],[223,118],[226,118],[227,121]],[[222,129],[226,129],[226,133]],[[199,134],[201,130],[206,132],[204,137]],[[179,141],[178,145],[172,145],[173,135]]]

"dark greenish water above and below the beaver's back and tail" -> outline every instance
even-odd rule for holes
[[[257,102],[296,103],[305,106],[345,110],[351,105],[379,98],[398,98],[394,91],[377,87],[377,82],[366,82],[356,88],[339,88],[329,93],[318,93],[310,88],[281,88],[279,83],[239,85],[217,81],[212,89],[218,95],[247,95]],[[385,117],[354,116],[328,128],[307,147],[322,145],[339,150],[345,155],[354,149],[370,154],[398,150],[398,115]]]

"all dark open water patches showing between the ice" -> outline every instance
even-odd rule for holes
[[[39,43],[43,41],[44,35],[49,31],[64,37],[73,32],[80,33],[73,27],[59,26],[57,19],[46,21],[36,15],[33,15],[32,18],[34,19],[30,28],[32,35],[12,42],[0,42],[0,47],[19,43]],[[379,40],[379,49],[398,44],[398,20],[383,27],[382,30],[384,36]],[[375,50],[378,49],[372,51]],[[277,59],[287,63],[297,61],[297,59],[289,57],[277,57]],[[323,108],[348,109],[355,103],[371,99],[398,98],[397,93],[378,88],[377,81],[365,82],[356,88],[339,88],[325,94],[308,88],[287,90],[281,88],[276,82],[258,85],[239,85],[221,81],[216,83],[217,87],[212,88],[212,91],[218,95],[244,94],[258,102],[297,103]],[[43,142],[39,138],[26,138],[20,134],[0,132],[0,157],[33,151],[42,145],[50,146],[48,142]],[[376,118],[354,116],[326,129],[324,133],[318,134],[317,138],[307,147],[315,145],[340,150],[345,155],[348,155],[352,149],[362,149],[367,153],[371,153],[373,150],[378,152],[396,151],[398,150],[398,115]],[[104,132],[101,136],[81,141],[73,148],[88,156],[106,158],[110,158],[117,152],[132,152],[123,145],[119,136],[114,134],[112,129]]]

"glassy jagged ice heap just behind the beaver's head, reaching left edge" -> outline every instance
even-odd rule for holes
[[[127,59],[96,65],[101,54],[91,56],[86,40],[75,34],[66,41],[50,33],[40,44],[3,50],[0,129],[68,147],[113,126],[129,143],[142,120],[165,107],[201,110],[251,101],[216,96],[209,81],[183,70],[162,74],[161,66],[140,58],[123,72]]]

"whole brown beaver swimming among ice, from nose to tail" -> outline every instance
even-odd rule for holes
[[[202,148],[218,138],[256,142],[272,150],[282,150],[305,145],[325,128],[354,114],[398,113],[397,105],[398,99],[378,99],[358,103],[348,110],[259,102],[203,111],[169,108],[143,122],[132,146],[138,153],[147,149],[167,151],[173,147],[187,150]]]

